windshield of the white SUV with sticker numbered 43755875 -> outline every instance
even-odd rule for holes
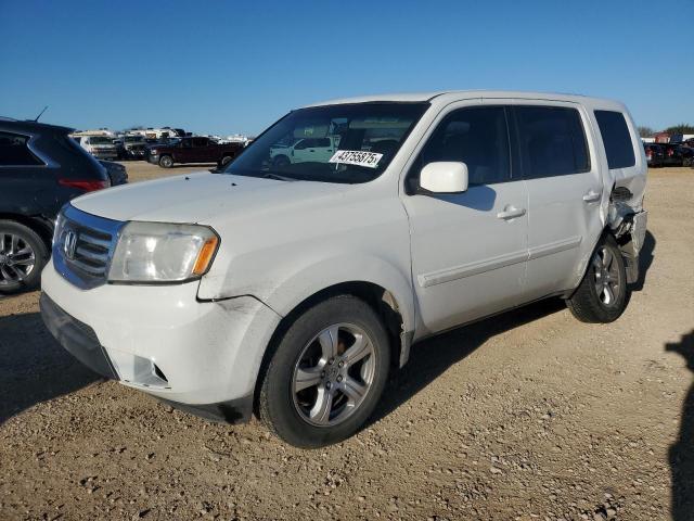
[[[280,119],[224,174],[368,182],[388,166],[428,103],[357,103],[301,109]]]

